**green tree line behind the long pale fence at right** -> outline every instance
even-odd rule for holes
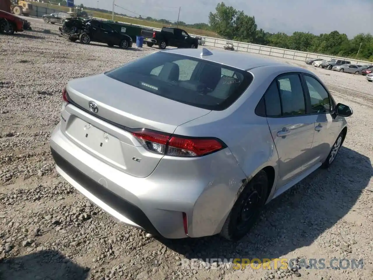
[[[265,32],[258,29],[254,16],[245,15],[244,11],[226,6],[224,2],[217,4],[215,13],[210,12],[209,24],[209,30],[229,40],[332,56],[355,58],[358,55],[358,59],[373,61],[371,34],[361,33],[350,40],[346,34],[338,31],[320,35],[309,32],[294,32],[292,35]]]

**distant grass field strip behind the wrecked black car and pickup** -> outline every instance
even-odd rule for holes
[[[32,5],[38,6],[38,7],[54,9],[54,10],[60,10],[62,12],[69,12],[70,11],[69,7],[58,6],[58,5],[48,4],[48,3],[32,2]],[[88,13],[88,15],[91,15],[94,18],[104,18],[104,19],[110,19],[110,20],[113,18],[111,13],[96,12],[94,10],[90,10],[89,8],[86,8],[84,10]],[[141,19],[129,18],[129,17],[124,17],[124,16],[118,16],[118,15],[114,15],[114,20],[115,21],[126,22],[126,23],[129,23],[129,24],[144,25],[144,26],[149,26],[149,27],[154,27],[154,28],[162,28],[162,27],[166,26],[165,24],[162,24],[160,22],[144,21],[144,20],[141,20]],[[219,36],[218,34],[216,34],[215,32],[212,32],[212,31],[195,29],[195,28],[188,28],[188,27],[184,27],[184,26],[179,26],[179,28],[184,29],[186,32],[188,32],[190,34],[207,36],[207,37],[222,38],[221,36]]]

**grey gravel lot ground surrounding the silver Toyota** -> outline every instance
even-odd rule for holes
[[[100,211],[56,173],[48,139],[68,80],[157,49],[72,43],[56,35],[59,25],[29,20],[32,32],[0,35],[0,279],[372,279],[373,83],[285,60],[314,71],[337,102],[354,109],[333,166],[270,203],[241,242],[217,236],[147,239]],[[206,258],[324,258],[326,268],[307,269],[301,261],[292,271],[235,270],[202,261],[184,265]],[[364,266],[332,269],[332,258],[363,259]]]

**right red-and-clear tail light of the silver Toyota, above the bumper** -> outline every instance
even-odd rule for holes
[[[226,147],[219,139],[210,137],[184,137],[159,131],[132,130],[142,146],[149,152],[167,156],[200,157]]]

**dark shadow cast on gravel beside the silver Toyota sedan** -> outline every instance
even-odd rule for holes
[[[239,242],[219,235],[159,241],[187,259],[279,258],[311,245],[348,214],[368,191],[372,176],[369,158],[342,147],[329,169],[318,169],[268,203],[257,225]]]

